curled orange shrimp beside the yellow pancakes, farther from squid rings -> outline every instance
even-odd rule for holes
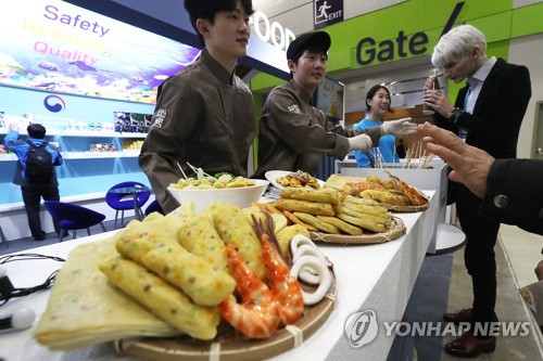
[[[226,246],[228,270],[236,280],[243,302],[229,295],[217,307],[223,318],[240,333],[252,338],[267,338],[279,326],[277,304],[272,291],[243,262],[236,249]]]

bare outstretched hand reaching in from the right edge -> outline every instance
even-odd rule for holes
[[[445,160],[453,171],[452,181],[464,183],[473,194],[483,197],[487,192],[487,178],[494,158],[478,147],[466,144],[451,131],[429,123],[418,126],[424,136],[426,149]]]

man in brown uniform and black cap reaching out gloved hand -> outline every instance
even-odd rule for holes
[[[417,126],[405,119],[381,127],[350,131],[337,126],[311,104],[315,89],[326,74],[330,36],[324,31],[304,34],[292,41],[287,60],[292,79],[269,93],[258,125],[258,169],[303,170],[315,175],[321,154],[343,159],[350,151],[367,152],[382,134],[407,134]]]

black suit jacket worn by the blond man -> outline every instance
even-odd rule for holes
[[[464,108],[468,86],[460,89],[455,106]],[[522,118],[531,96],[530,74],[522,65],[498,59],[483,82],[473,114],[464,113],[456,125],[435,114],[435,124],[458,133],[468,130],[466,142],[495,158],[515,158]]]

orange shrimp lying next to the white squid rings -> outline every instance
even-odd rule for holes
[[[253,223],[256,234],[262,243],[262,256],[272,289],[273,300],[277,304],[277,310],[282,325],[296,322],[303,313],[304,301],[302,287],[296,278],[290,273],[289,267],[278,247],[278,242],[273,232],[274,221],[266,214],[267,229],[264,230],[262,221]]]

